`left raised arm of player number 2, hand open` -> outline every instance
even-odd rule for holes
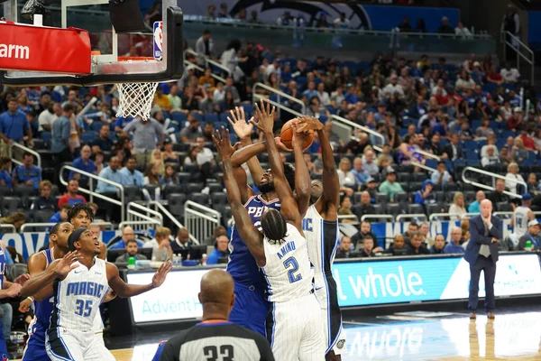
[[[229,140],[229,131],[222,128],[222,134],[216,131],[212,139],[224,164],[225,190],[229,207],[231,207],[231,212],[233,213],[235,227],[237,227],[243,242],[248,246],[253,258],[255,258],[255,262],[258,266],[263,267],[266,263],[263,235],[253,226],[252,219],[248,215],[248,211],[244,208],[243,201],[241,200],[241,193],[234,178],[234,170],[231,163],[234,147],[231,146],[231,141]]]

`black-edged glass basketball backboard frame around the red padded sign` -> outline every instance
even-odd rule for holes
[[[62,0],[61,27],[66,28],[69,25],[68,11],[70,7],[104,4],[108,4],[108,1]],[[177,0],[162,0],[164,34],[162,60],[118,61],[118,37],[115,29],[112,28],[112,53],[93,57],[93,67],[89,75],[70,76],[10,69],[0,71],[0,82],[14,86],[93,86],[98,84],[160,82],[180,79],[183,73],[183,14],[177,4]],[[4,3],[4,10],[5,19],[16,23],[20,16],[17,10],[17,1],[9,0]],[[59,46],[61,46],[61,42]]]

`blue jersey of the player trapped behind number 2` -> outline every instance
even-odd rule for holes
[[[261,216],[263,215],[263,212],[267,208],[280,210],[280,199],[273,199],[270,202],[267,202],[258,194],[257,196],[248,199],[244,208],[246,208],[248,215],[252,218],[253,226],[261,229]],[[248,246],[244,244],[243,239],[235,226],[231,233],[229,251],[231,255],[229,255],[227,272],[231,274],[234,282],[242,283],[248,287],[254,286],[257,289],[264,291],[266,284],[261,279],[259,267],[255,263],[253,255],[250,253]]]

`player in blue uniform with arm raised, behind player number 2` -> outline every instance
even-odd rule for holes
[[[261,106],[262,106],[261,101]],[[280,210],[280,200],[275,190],[273,172],[270,170],[263,171],[260,162],[255,157],[255,154],[265,152],[266,146],[264,143],[252,144],[250,136],[252,134],[253,125],[246,123],[244,118],[243,108],[236,108],[236,115],[232,111],[229,118],[235,133],[241,139],[241,143],[246,146],[242,150],[234,153],[232,158],[232,166],[236,184],[238,184],[241,194],[243,207],[248,211],[250,222],[255,227],[261,227],[261,216],[267,208]],[[274,139],[273,139],[274,142]],[[283,144],[280,144],[280,149],[284,149]],[[255,194],[252,188],[248,187],[246,172],[241,165],[247,162],[252,179],[261,191],[261,194]],[[283,172],[291,189],[295,189],[295,169],[286,163],[283,165]],[[248,329],[265,335],[265,319],[269,311],[269,303],[265,299],[265,283],[261,279],[261,274],[253,256],[249,249],[241,239],[238,227],[236,224],[233,227],[231,242],[229,243],[229,263],[227,264],[227,272],[234,279],[234,302],[233,310],[229,319],[237,325],[244,326]]]

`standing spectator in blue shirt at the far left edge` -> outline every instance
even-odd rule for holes
[[[0,153],[9,155],[9,146],[12,143],[24,145],[25,136],[28,138],[28,146],[32,148],[32,129],[26,116],[19,112],[17,100],[13,97],[7,101],[7,111],[0,115],[0,139],[4,142]],[[14,148],[14,158],[23,158],[23,151],[18,147]]]

